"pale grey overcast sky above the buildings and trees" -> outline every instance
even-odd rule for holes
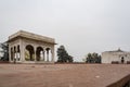
[[[130,51],[130,0],[0,0],[0,42],[20,29],[55,38],[75,61]]]

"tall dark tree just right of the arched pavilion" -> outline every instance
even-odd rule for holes
[[[73,57],[67,53],[64,46],[57,48],[57,62],[73,62]]]

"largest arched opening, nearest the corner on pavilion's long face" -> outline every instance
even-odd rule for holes
[[[35,50],[31,45],[26,46],[25,60],[26,61],[35,61]]]

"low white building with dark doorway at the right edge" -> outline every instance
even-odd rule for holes
[[[130,63],[130,52],[120,49],[102,52],[102,63]]]

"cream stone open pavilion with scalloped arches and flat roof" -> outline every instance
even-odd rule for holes
[[[9,36],[9,61],[17,63],[54,63],[55,40],[20,30]]]

